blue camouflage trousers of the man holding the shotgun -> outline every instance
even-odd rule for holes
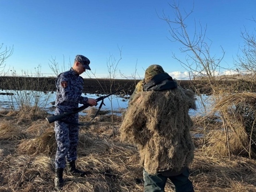
[[[78,113],[70,115],[63,121],[78,123]],[[77,159],[78,131],[77,125],[66,122],[55,122],[55,137],[57,142],[57,152],[55,157],[55,168],[65,168],[66,160],[75,161]]]

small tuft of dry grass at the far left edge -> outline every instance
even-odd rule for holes
[[[8,121],[2,120],[0,124],[0,139],[2,140],[20,140],[26,138],[21,129]]]

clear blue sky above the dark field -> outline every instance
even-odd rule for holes
[[[67,66],[75,55],[82,54],[91,61],[97,78],[109,77],[107,60],[112,55],[122,59],[117,65],[125,77],[143,77],[151,64],[159,64],[176,79],[186,74],[172,53],[183,60],[182,46],[171,38],[169,26],[161,20],[162,11],[174,18],[168,2],[172,0],[0,0],[0,43],[13,46],[14,52],[5,60],[5,70],[18,73],[34,71],[52,76],[51,58]],[[193,1],[180,0],[180,9],[189,11]],[[241,31],[254,31],[256,23],[254,0],[195,0],[194,12],[188,19],[188,31],[194,30],[194,20],[205,27],[212,41],[211,53],[225,56],[221,66],[233,67],[233,58],[243,45]],[[0,50],[1,51],[1,50]],[[63,58],[64,56],[64,58]],[[113,58],[112,57],[112,58]],[[112,63],[112,62],[111,62]],[[87,77],[84,75],[83,77]],[[93,77],[93,76],[92,76]]]

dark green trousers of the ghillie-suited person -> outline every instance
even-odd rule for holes
[[[188,179],[190,175],[188,168],[176,176],[163,176],[161,172],[156,175],[149,175],[143,169],[144,191],[164,192],[167,179],[170,179],[175,186],[176,192],[194,192],[192,182]]]

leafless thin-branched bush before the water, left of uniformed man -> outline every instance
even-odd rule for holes
[[[24,112],[27,116],[40,115],[52,97],[51,94],[42,91],[47,86],[47,79],[43,78],[41,65],[31,72],[21,70],[21,73],[17,73],[12,69],[8,76],[5,79],[5,87],[11,95],[8,97],[11,109]],[[38,110],[39,108],[41,110]]]

